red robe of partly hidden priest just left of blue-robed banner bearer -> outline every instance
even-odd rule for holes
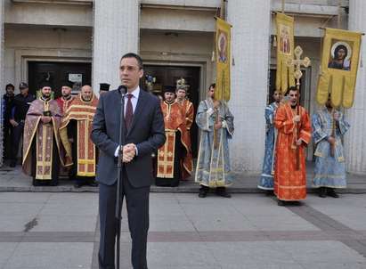
[[[193,118],[194,118],[194,108],[193,108],[193,103],[187,99],[184,99],[183,102],[178,102],[179,105],[182,108],[183,111],[183,115],[185,117],[185,128],[186,131],[188,133],[188,138],[187,138],[187,148],[188,148],[188,152],[185,155],[184,159],[183,159],[183,166],[187,166],[186,169],[183,169],[183,179],[189,177],[191,174],[185,174],[186,170],[192,170],[193,168],[193,157],[191,155],[191,125],[193,123]]]

